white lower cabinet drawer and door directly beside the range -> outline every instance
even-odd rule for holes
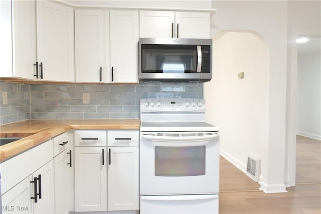
[[[108,210],[139,209],[139,132],[108,131]]]

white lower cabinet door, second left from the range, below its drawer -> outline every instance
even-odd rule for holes
[[[106,147],[75,147],[75,211],[107,211]]]

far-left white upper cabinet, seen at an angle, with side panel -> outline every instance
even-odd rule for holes
[[[35,79],[35,1],[1,1],[0,77]]]

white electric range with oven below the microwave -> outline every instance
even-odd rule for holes
[[[218,213],[219,128],[205,100],[140,100],[140,213]]]

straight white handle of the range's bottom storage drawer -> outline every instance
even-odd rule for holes
[[[142,200],[204,200],[218,198],[218,194],[201,194],[201,195],[148,195],[140,196]]]

